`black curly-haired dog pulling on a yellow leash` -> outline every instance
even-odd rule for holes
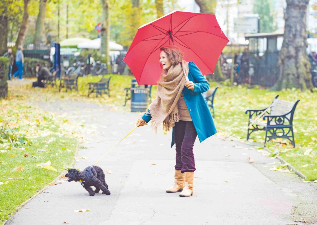
[[[93,166],[89,178],[87,179],[87,170],[90,168],[88,166],[83,171],[78,171],[76,169],[68,169],[68,173],[65,174],[65,177],[68,177],[67,181],[77,181],[88,191],[90,196],[94,196],[95,193],[99,193],[100,189],[102,194],[110,195],[108,190],[108,184],[105,181],[105,173],[99,166]],[[96,189],[93,190],[91,186],[94,186]]]

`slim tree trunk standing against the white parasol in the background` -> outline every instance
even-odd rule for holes
[[[110,2],[109,0],[101,0],[102,18],[100,29],[100,53],[105,55],[106,63],[109,62],[109,40],[110,40]]]

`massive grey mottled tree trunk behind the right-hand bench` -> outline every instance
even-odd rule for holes
[[[279,53],[280,76],[272,90],[312,88],[310,63],[306,53],[306,12],[309,0],[286,0],[283,44]]]

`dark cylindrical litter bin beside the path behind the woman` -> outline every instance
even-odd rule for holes
[[[131,112],[145,112],[147,109],[148,88],[131,88]]]

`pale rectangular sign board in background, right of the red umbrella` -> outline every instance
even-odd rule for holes
[[[234,31],[237,33],[258,33],[258,15],[243,16],[234,20]]]

